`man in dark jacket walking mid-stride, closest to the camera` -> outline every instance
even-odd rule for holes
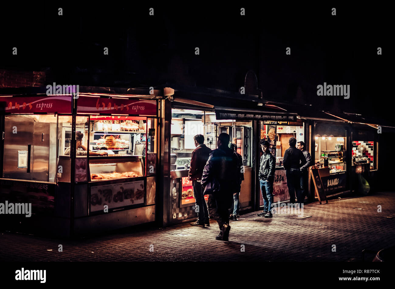
[[[239,161],[233,149],[228,147],[229,134],[221,133],[218,136],[218,149],[211,151],[209,159],[203,170],[201,184],[208,188],[215,188],[209,194],[208,208],[210,215],[218,222],[220,233],[217,240],[229,240],[229,207],[233,202],[233,194],[240,192]],[[204,194],[204,193],[203,193]]]

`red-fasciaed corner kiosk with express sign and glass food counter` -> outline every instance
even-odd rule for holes
[[[80,91],[0,97],[0,202],[32,206],[5,229],[67,237],[155,221],[158,100]]]

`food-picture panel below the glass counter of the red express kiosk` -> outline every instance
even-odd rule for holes
[[[90,188],[90,211],[137,205],[144,203],[144,181],[92,186]]]

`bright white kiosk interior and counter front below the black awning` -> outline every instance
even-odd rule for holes
[[[241,209],[250,206],[251,200],[251,152],[252,121],[216,119],[214,110],[171,108],[171,156],[170,192],[172,195],[171,222],[182,222],[197,216],[192,181],[188,180],[188,171],[192,151],[196,148],[193,137],[204,136],[204,144],[216,149],[216,140],[220,133],[229,134],[231,142],[237,145],[237,152],[243,156],[244,178],[240,192]],[[208,200],[208,196],[205,196]]]

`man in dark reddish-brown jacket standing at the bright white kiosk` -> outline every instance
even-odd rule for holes
[[[203,188],[201,186],[201,176],[203,175],[203,169],[211,153],[204,142],[204,136],[197,134],[194,136],[194,142],[196,149],[192,152],[191,166],[189,168],[188,176],[192,181],[192,187],[194,188],[195,205],[196,211],[198,212],[198,220],[191,222],[192,226],[205,227],[210,226],[209,211],[207,210],[206,200],[203,195]]]

